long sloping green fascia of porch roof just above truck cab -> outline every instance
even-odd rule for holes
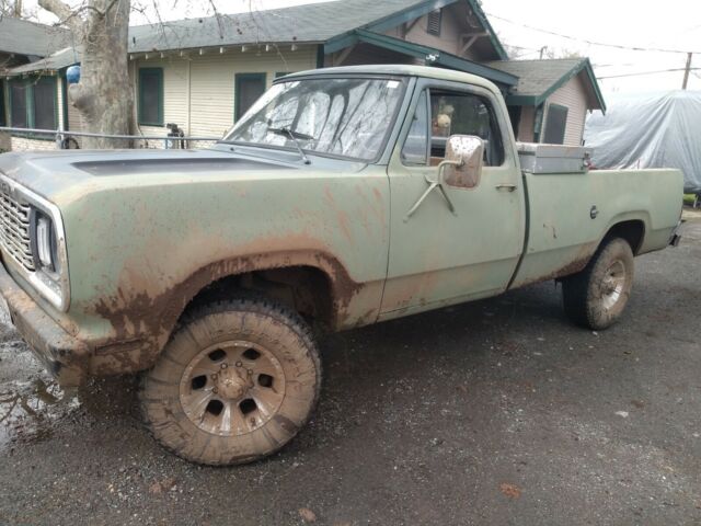
[[[326,43],[329,47],[326,48],[326,46],[324,46],[325,53],[329,54],[337,50],[340,43],[348,42],[348,38],[350,36],[355,37],[356,42],[365,42],[366,44],[371,44],[374,46],[401,53],[402,55],[407,55],[414,58],[426,60],[426,58],[430,55],[435,57],[435,60],[430,61],[430,64],[434,66],[443,66],[445,68],[456,69],[458,71],[479,75],[480,77],[484,77],[485,79],[489,79],[498,84],[510,87],[516,85],[516,83],[518,82],[518,77],[499,69],[490,68],[489,66],[473,62],[472,60],[468,60],[467,58],[461,58],[456,55],[441,52],[434,47],[414,44],[413,42],[402,41],[401,38],[394,38],[393,36],[379,35],[366,30],[356,30],[353,32],[353,35],[341,35],[341,38],[336,42],[334,42],[334,38],[332,38]]]

